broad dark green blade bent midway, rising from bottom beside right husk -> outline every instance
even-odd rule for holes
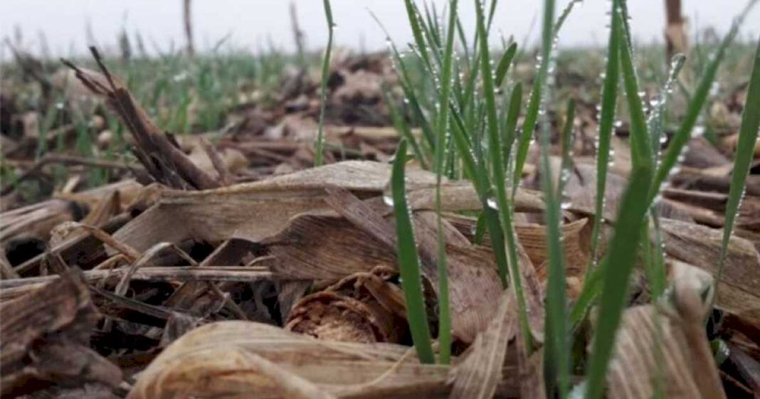
[[[625,188],[619,206],[610,249],[600,266],[603,274],[602,291],[599,316],[594,326],[591,359],[587,366],[586,397],[588,399],[603,397],[607,367],[610,364],[610,359],[612,359],[615,338],[622,320],[622,313],[625,311],[629,278],[638,256],[641,224],[644,223],[644,217],[649,209],[646,198],[653,174],[650,138],[641,99],[638,96],[638,82],[633,69],[632,49],[625,40],[623,33],[625,25],[623,24],[620,3],[619,0],[613,0],[612,29],[618,31],[616,33],[619,44],[618,56],[625,81],[625,94],[631,107],[632,170],[629,185]],[[612,269],[613,265],[614,270]]]

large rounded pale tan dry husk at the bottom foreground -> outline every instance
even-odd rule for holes
[[[247,321],[205,325],[141,373],[129,399],[446,397],[448,366],[410,347],[315,340]]]

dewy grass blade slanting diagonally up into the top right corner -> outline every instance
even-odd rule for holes
[[[705,67],[705,72],[702,74],[699,84],[692,95],[692,100],[689,102],[686,117],[683,119],[683,122],[681,122],[676,134],[673,135],[673,138],[670,140],[667,152],[663,156],[660,166],[657,168],[657,174],[654,177],[654,182],[649,192],[650,202],[653,202],[654,198],[659,195],[663,183],[672,173],[676,163],[679,163],[679,159],[682,157],[682,153],[686,149],[686,144],[688,144],[689,139],[692,138],[692,130],[697,124],[702,112],[702,107],[705,106],[713,81],[715,80],[715,75],[717,74],[717,68],[726,54],[726,49],[733,42],[734,37],[736,37],[736,34],[739,32],[739,27],[743,23],[744,17],[746,14],[749,14],[750,9],[754,7],[755,4],[757,4],[757,0],[749,2],[743,12],[736,17],[731,25],[731,29],[726,33],[724,40],[720,42],[720,46],[718,46],[715,55]]]

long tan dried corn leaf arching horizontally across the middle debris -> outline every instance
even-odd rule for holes
[[[328,210],[323,201],[325,188],[337,186],[379,195],[389,176],[388,164],[347,161],[216,190],[166,192],[156,206],[124,226],[115,238],[139,251],[156,242],[189,238],[260,242],[280,233],[296,214]],[[408,177],[410,187],[435,184],[432,173],[417,171]],[[182,225],[176,220],[182,220]]]

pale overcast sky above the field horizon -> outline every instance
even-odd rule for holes
[[[558,13],[569,0],[559,0]],[[326,43],[325,16],[321,0],[294,0],[306,43],[311,49]],[[715,27],[725,32],[733,17],[746,5],[746,0],[682,0],[683,13],[695,27]],[[418,0],[418,3],[421,2]],[[442,8],[446,0],[432,0]],[[473,4],[463,0],[462,20],[473,28]],[[529,32],[537,38],[540,29],[538,16],[543,2],[538,0],[502,0],[496,11],[496,33],[514,35],[523,40]],[[258,49],[268,40],[293,49],[287,0],[195,0],[193,23],[196,45],[208,49],[217,40],[230,34],[238,46]],[[403,0],[332,0],[334,18],[338,24],[336,43],[340,46],[382,49],[385,35],[369,15],[378,15],[397,43],[410,40],[410,29],[404,14]],[[605,42],[605,0],[585,0],[569,17],[560,37],[561,46],[594,46]],[[632,30],[635,38],[644,43],[661,40],[664,24],[663,0],[629,0]],[[533,30],[531,23],[537,21]],[[150,48],[157,43],[169,49],[170,43],[180,46],[182,34],[181,0],[2,0],[0,2],[0,33],[14,35],[14,28],[23,33],[24,43],[38,51],[40,32],[46,36],[54,55],[81,53],[87,44],[85,30],[90,21],[100,45],[116,42],[116,34],[125,27],[133,34],[139,31]],[[757,38],[760,33],[760,11],[755,8],[747,16],[742,35]],[[3,51],[5,54],[6,52]]]

